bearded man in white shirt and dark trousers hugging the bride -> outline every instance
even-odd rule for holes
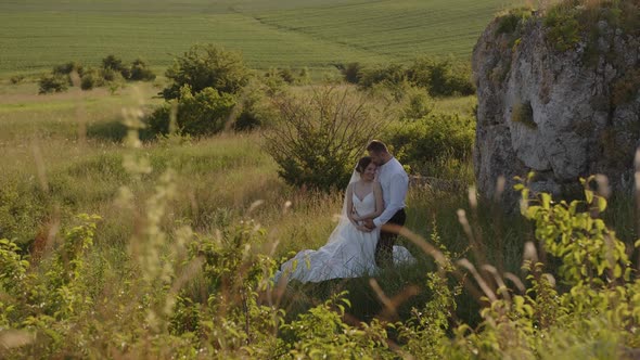
[[[405,226],[405,197],[409,189],[409,177],[382,141],[371,141],[367,151],[371,160],[377,165],[384,211],[373,220],[366,220],[364,226],[370,231],[381,227],[380,240],[375,246],[375,263],[381,268],[388,268],[394,263],[394,243],[398,234],[396,230],[388,229],[387,224]]]

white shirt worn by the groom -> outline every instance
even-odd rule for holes
[[[377,168],[377,181],[382,187],[384,211],[373,219],[375,227],[386,223],[400,209],[405,208],[405,197],[409,190],[409,176],[395,157]]]

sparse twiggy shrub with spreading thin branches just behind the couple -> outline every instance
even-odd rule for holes
[[[362,97],[335,88],[310,95],[283,95],[279,116],[267,133],[266,150],[290,184],[320,190],[343,188],[354,164],[382,125]]]

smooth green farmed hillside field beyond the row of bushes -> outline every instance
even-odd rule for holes
[[[466,60],[486,24],[516,0],[26,0],[0,3],[0,73],[106,54],[167,66],[193,43],[240,50],[252,67]]]

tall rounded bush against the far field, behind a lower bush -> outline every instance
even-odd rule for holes
[[[208,44],[193,46],[177,57],[166,76],[171,83],[161,94],[169,100],[178,98],[184,85],[193,92],[214,88],[236,93],[247,83],[249,72],[240,53]]]

